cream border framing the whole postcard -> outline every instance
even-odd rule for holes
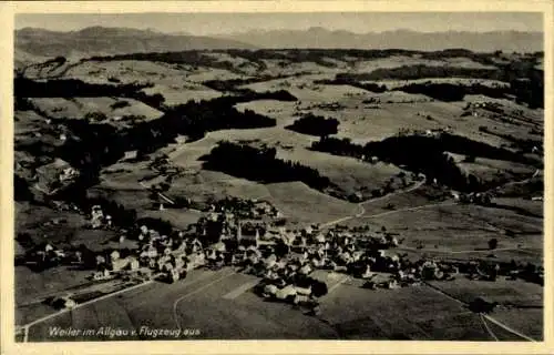
[[[552,305],[552,172],[553,172],[553,1],[89,1],[0,3],[0,48],[2,49],[0,128],[1,231],[1,341],[7,354],[554,354]],[[41,343],[13,342],[13,17],[16,13],[137,13],[137,12],[543,12],[545,39],[545,341],[542,343],[479,342],[358,342],[358,341],[248,341],[248,342],[102,342]]]

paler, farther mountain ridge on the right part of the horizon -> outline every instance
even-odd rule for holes
[[[316,27],[308,30],[249,31],[219,38],[247,42],[259,48],[359,48],[435,51],[463,48],[472,51],[534,52],[543,50],[541,32],[388,32],[353,33]]]

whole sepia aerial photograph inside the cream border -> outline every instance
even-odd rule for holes
[[[544,13],[336,9],[13,16],[16,344],[545,341]]]

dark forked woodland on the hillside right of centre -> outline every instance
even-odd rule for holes
[[[442,133],[437,138],[391,136],[366,145],[351,143],[349,139],[325,136],[314,142],[311,149],[367,161],[371,156],[378,156],[381,161],[406,165],[416,173],[424,173],[428,179],[437,179],[460,191],[484,191],[491,189],[495,182],[485,183],[473,174],[468,175],[445,152],[527,163],[527,159],[523,155],[449,133]]]

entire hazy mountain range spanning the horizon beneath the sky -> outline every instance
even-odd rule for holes
[[[39,57],[89,57],[134,52],[168,52],[204,49],[256,48],[357,48],[443,50],[463,48],[472,51],[543,50],[540,32],[433,32],[398,30],[381,33],[352,33],[325,28],[308,30],[249,31],[212,37],[161,33],[154,30],[91,27],[79,31],[57,32],[24,28],[16,31],[16,49]]]

